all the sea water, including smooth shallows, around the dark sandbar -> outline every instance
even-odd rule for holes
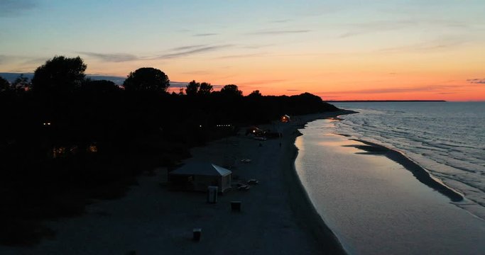
[[[334,105],[357,113],[307,123],[295,168],[349,254],[485,254],[485,102]],[[400,152],[464,200],[359,140]]]

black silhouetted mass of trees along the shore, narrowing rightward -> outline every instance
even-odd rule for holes
[[[141,170],[172,166],[241,125],[337,110],[308,93],[243,96],[234,84],[214,91],[191,81],[169,94],[158,69],[137,69],[123,86],[86,79],[85,69],[80,57],[60,56],[30,82],[0,77],[0,223],[13,229],[0,242],[36,237],[43,231],[26,219],[80,213],[86,198],[118,196]]]

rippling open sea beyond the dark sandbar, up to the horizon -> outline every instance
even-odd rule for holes
[[[485,102],[338,103],[359,111],[334,132],[396,149],[481,208],[485,218]]]

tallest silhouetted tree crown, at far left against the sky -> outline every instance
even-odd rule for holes
[[[56,56],[36,69],[32,89],[41,93],[69,93],[81,86],[86,64],[80,57]]]

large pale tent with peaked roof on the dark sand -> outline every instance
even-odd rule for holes
[[[171,171],[169,176],[173,190],[207,191],[208,186],[217,186],[224,193],[231,188],[232,172],[207,162],[187,163]]]

